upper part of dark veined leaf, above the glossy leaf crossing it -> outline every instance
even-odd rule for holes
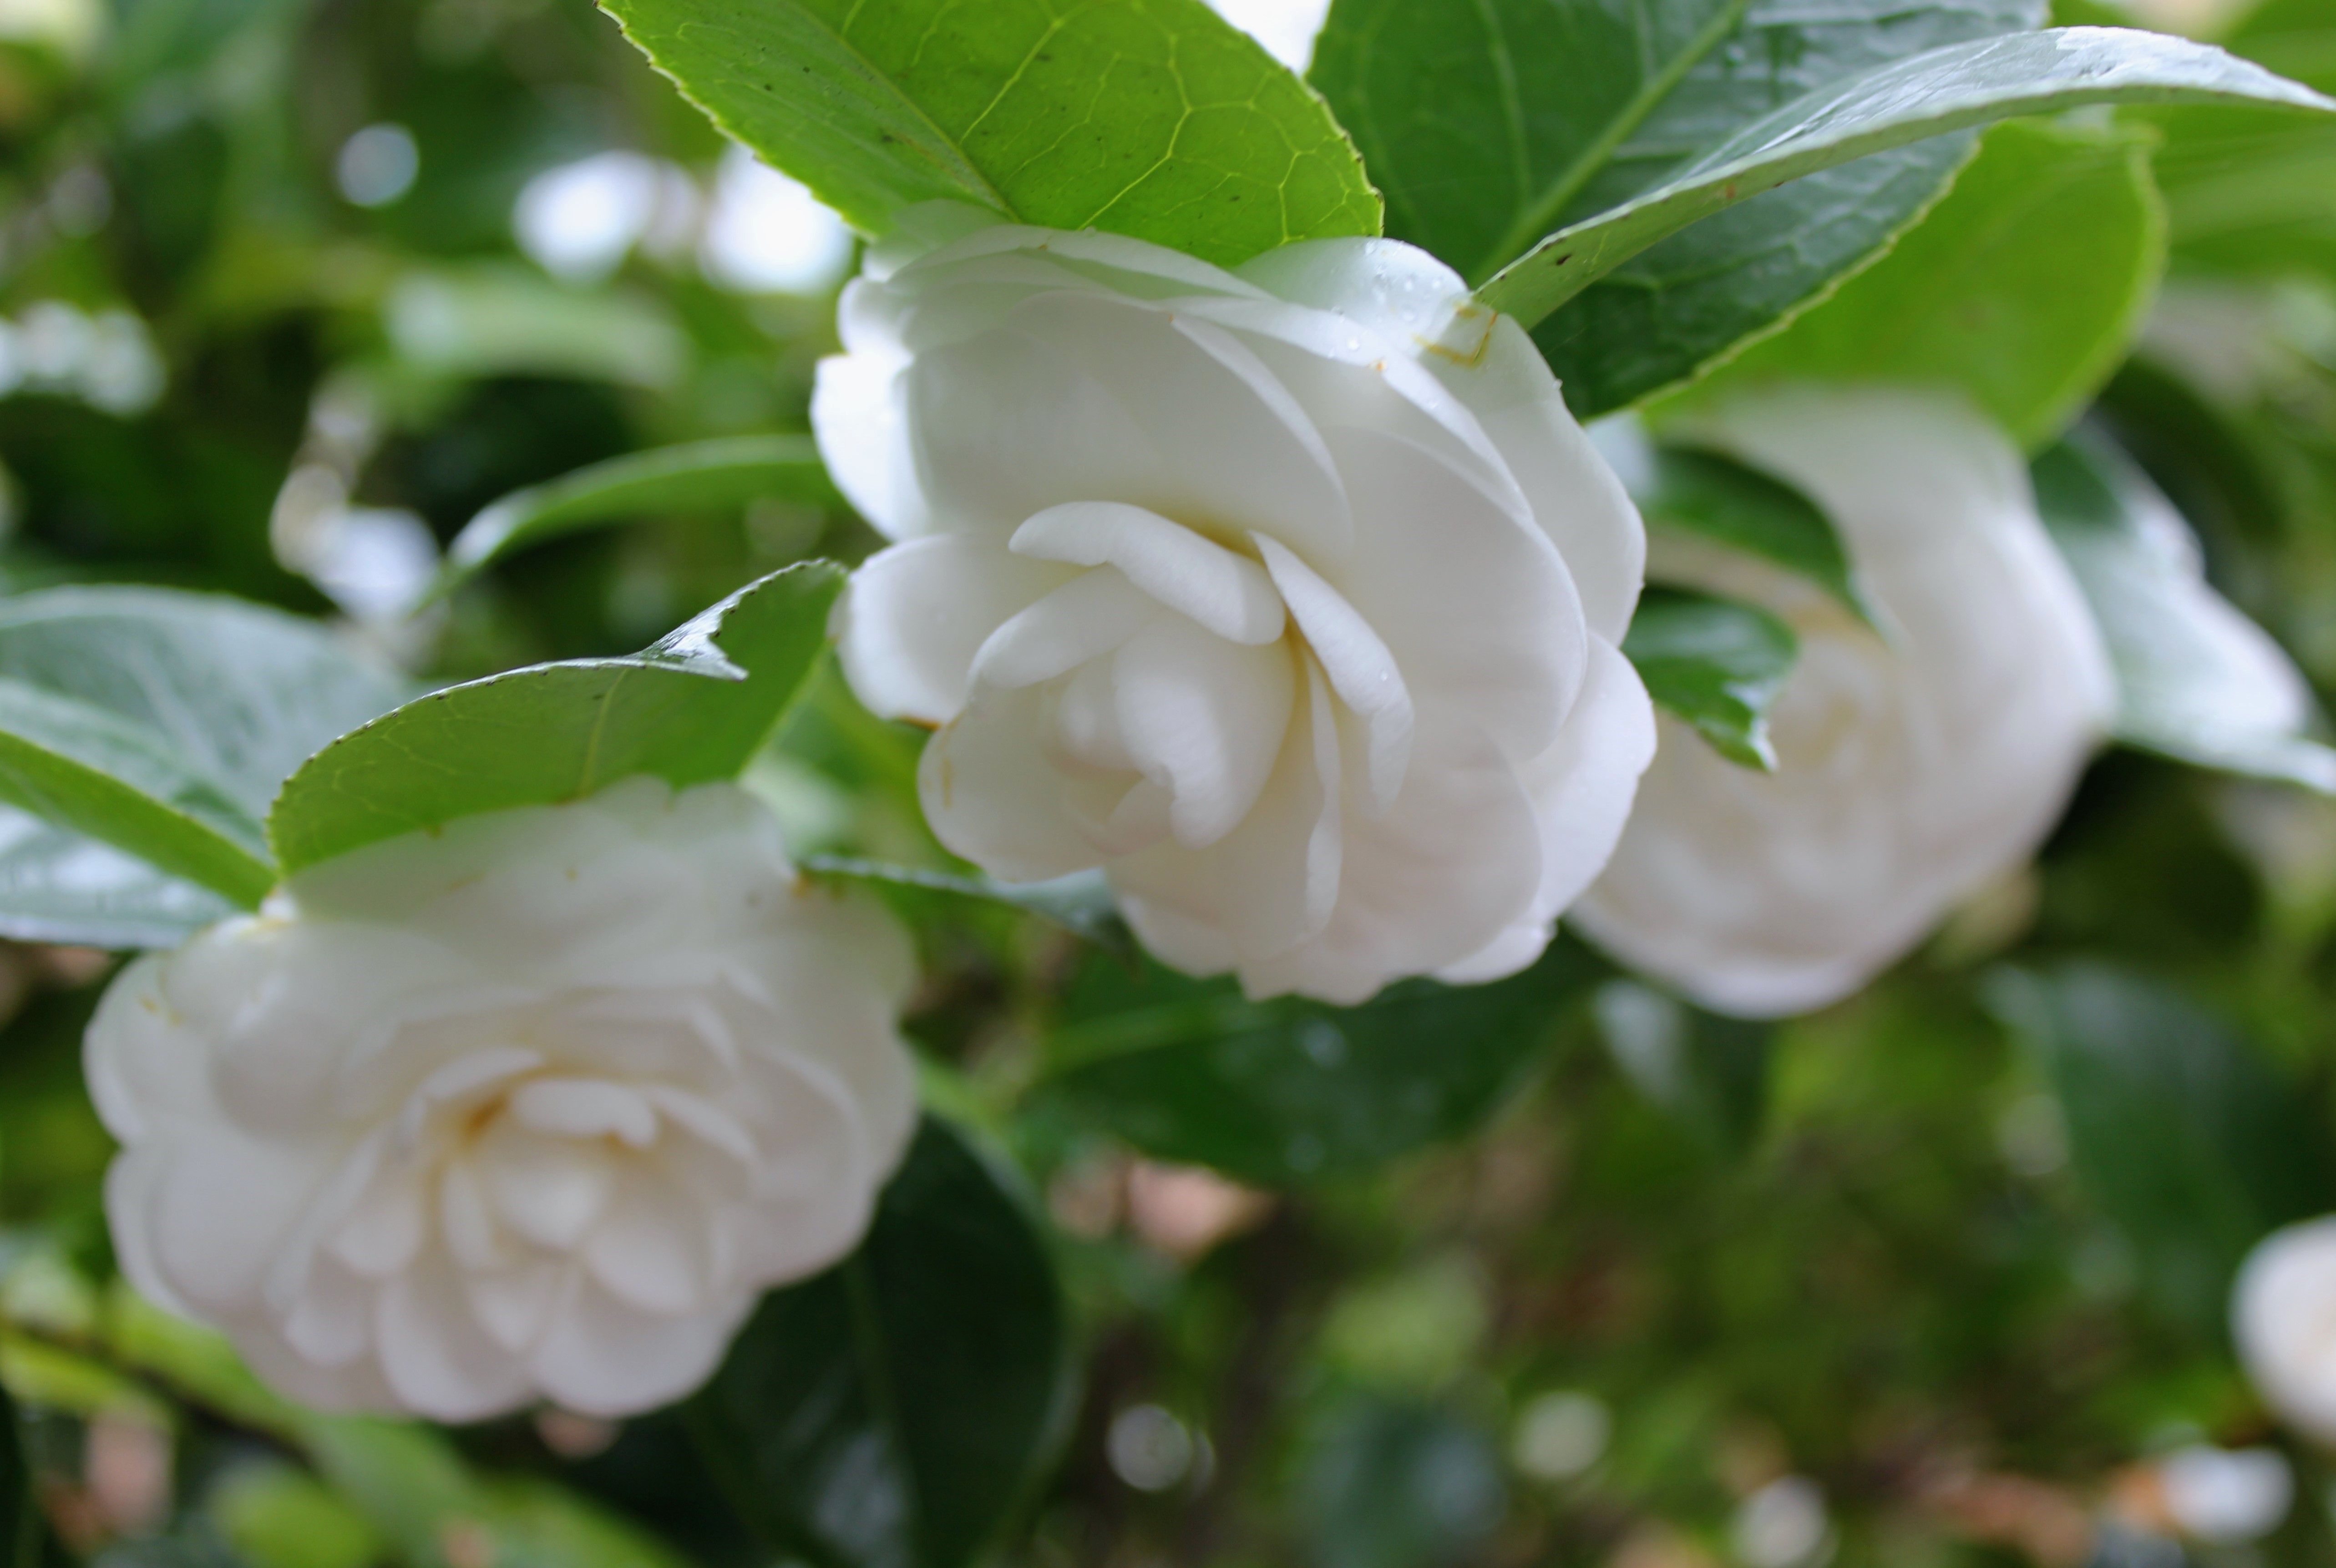
[[[1803,93],[2042,16],[2032,0],[1336,0],[1310,77],[1385,192],[1388,234],[1481,283]]]

